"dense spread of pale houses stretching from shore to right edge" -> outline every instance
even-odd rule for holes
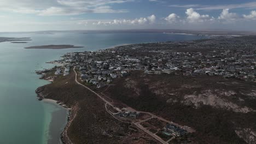
[[[253,47],[256,44],[233,42],[133,44],[93,52],[67,53],[60,62],[75,65],[79,68],[80,79],[98,88],[117,77],[130,75],[132,70],[143,70],[147,74],[219,75],[255,82],[256,50]],[[65,68],[64,75],[68,70]]]

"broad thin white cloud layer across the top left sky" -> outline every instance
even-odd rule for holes
[[[126,13],[113,9],[113,4],[134,0],[1,0],[1,10],[37,15],[79,15],[84,13]]]

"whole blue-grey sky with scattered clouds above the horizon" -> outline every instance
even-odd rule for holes
[[[256,31],[256,1],[0,0],[0,32],[94,29]]]

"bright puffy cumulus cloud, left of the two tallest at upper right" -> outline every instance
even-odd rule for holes
[[[185,13],[187,14],[187,20],[190,23],[214,20],[214,17],[210,17],[209,15],[200,15],[193,8],[187,9],[187,11]]]

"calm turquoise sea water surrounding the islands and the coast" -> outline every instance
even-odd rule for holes
[[[32,39],[27,44],[0,43],[0,143],[8,144],[57,143],[53,141],[60,139],[60,131],[66,123],[66,110],[53,103],[38,101],[34,93],[37,87],[48,83],[34,74],[34,70],[53,67],[45,62],[60,59],[67,52],[95,51],[120,44],[205,38],[163,33],[0,33],[0,37]],[[50,44],[71,44],[84,48],[23,49]],[[55,124],[56,121],[59,124]],[[48,142],[53,137],[55,140]]]

